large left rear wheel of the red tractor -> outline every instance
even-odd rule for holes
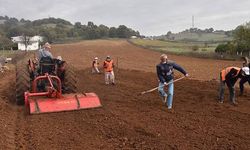
[[[24,93],[30,89],[30,74],[25,63],[18,62],[16,65],[16,104],[24,104]]]

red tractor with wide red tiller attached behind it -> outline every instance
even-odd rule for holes
[[[65,61],[29,59],[16,66],[16,103],[31,114],[101,107],[95,93],[76,93],[76,74]]]

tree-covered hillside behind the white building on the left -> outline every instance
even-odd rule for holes
[[[16,19],[8,16],[0,16],[0,48],[12,46],[10,40],[14,36],[34,36],[40,35],[46,42],[57,42],[67,39],[100,39],[100,38],[129,38],[140,36],[138,31],[120,25],[118,27],[108,27],[103,24],[96,25],[89,21],[87,24],[69,21],[60,18],[45,18],[39,20]]]

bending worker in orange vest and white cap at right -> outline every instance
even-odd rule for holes
[[[227,67],[220,72],[220,103],[223,103],[225,85],[227,85],[230,93],[230,101],[232,102],[232,104],[237,105],[235,100],[234,85],[239,78],[242,78],[246,75],[249,75],[248,67]]]

